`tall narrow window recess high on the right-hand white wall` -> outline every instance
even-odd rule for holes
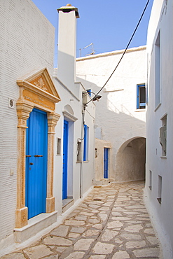
[[[160,31],[155,41],[155,108],[160,104]]]

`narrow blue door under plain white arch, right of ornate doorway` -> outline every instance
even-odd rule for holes
[[[64,120],[62,200],[67,199],[68,138],[69,138],[69,122],[67,120]]]

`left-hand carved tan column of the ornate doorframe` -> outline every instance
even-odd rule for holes
[[[18,115],[18,174],[17,174],[17,208],[15,210],[15,228],[27,225],[27,207],[25,207],[25,158],[27,119],[34,106],[17,102]]]

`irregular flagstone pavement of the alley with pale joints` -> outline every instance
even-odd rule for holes
[[[96,187],[62,225],[3,259],[160,258],[143,202],[144,182]]]

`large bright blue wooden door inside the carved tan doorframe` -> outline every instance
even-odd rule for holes
[[[26,190],[28,218],[46,212],[48,121],[47,114],[33,109],[27,120]]]

